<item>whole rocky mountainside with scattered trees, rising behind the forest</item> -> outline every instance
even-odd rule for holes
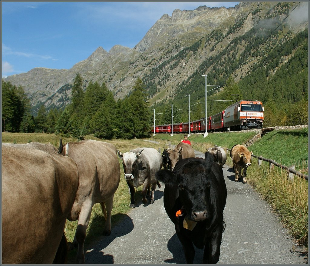
[[[237,82],[251,73],[264,53],[289,40],[308,20],[288,16],[297,4],[241,2],[230,8],[176,9],[171,17],[163,15],[157,20],[133,49],[117,45],[107,52],[98,47],[69,70],[35,68],[4,80],[24,88],[34,113],[42,103],[47,110],[68,104],[77,73],[85,88],[90,81],[105,82],[116,99],[128,95],[141,77],[150,102],[159,103],[180,92],[186,95],[183,90],[194,79],[201,79],[203,86],[201,75],[205,73],[211,84],[225,83],[230,74]],[[298,9],[307,4],[300,2]]]

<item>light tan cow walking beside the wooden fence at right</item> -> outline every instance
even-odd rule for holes
[[[253,151],[249,151],[245,146],[236,144],[232,147],[229,155],[232,158],[233,169],[235,171],[235,182],[241,178],[241,170],[243,169],[243,183],[246,181],[246,169],[251,165]]]

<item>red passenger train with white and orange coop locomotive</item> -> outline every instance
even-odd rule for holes
[[[261,101],[241,100],[225,110],[192,122],[155,125],[152,133],[205,133],[263,128],[264,107]],[[189,127],[189,128],[188,128]]]

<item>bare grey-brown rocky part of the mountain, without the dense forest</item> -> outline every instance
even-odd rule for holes
[[[77,73],[84,80],[84,89],[90,82],[105,82],[116,99],[128,95],[135,79],[141,77],[147,84],[151,103],[162,101],[173,98],[176,88],[187,82],[205,61],[210,58],[214,61],[213,58],[233,45],[235,38],[251,30],[254,32],[255,27],[259,32],[259,23],[267,19],[281,21],[286,9],[284,3],[278,5],[274,2],[240,2],[229,8],[176,9],[171,16],[162,15],[134,48],[115,45],[107,52],[98,46],[88,58],[77,62],[71,69],[34,68],[3,80],[24,88],[34,113],[41,104],[45,104],[48,110],[63,108],[70,103],[70,84]],[[288,32],[286,28],[283,34]],[[246,41],[237,45],[238,56],[246,45]],[[224,59],[229,56],[225,55]],[[211,66],[222,67],[224,59],[218,59]],[[252,65],[259,60],[260,57],[255,56],[254,60],[241,64],[235,73],[235,81],[250,73]],[[210,71],[211,66],[203,71]],[[61,101],[62,98],[66,100]]]

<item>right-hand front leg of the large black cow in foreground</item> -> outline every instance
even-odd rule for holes
[[[211,238],[206,239],[205,250],[203,252],[203,264],[216,264],[219,261],[223,233],[223,223],[219,223]]]

